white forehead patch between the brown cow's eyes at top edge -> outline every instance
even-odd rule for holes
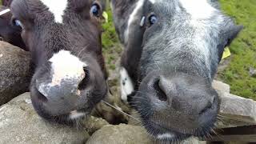
[[[45,6],[47,6],[52,14],[54,14],[55,22],[62,23],[64,11],[68,5],[67,0],[40,0]]]

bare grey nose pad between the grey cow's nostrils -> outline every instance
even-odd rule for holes
[[[162,108],[190,116],[195,120],[207,113],[214,104],[214,96],[207,93],[204,86],[197,85],[190,78],[167,78],[160,76],[154,80],[155,97],[162,102]],[[168,108],[167,108],[168,107]]]

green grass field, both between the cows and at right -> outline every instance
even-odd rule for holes
[[[250,67],[256,69],[256,0],[220,0],[222,10],[244,26],[242,33],[230,46],[232,56],[229,66],[218,72],[218,79],[230,85],[231,93],[256,100],[256,78],[250,76]],[[108,10],[110,22],[103,25],[103,53],[107,67],[114,70],[114,63],[122,49],[114,33],[114,25]]]

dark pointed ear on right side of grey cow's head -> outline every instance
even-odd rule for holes
[[[240,31],[243,29],[243,26],[230,26],[230,29],[224,34],[224,37],[226,38],[226,46],[230,46],[231,42],[238,36]]]

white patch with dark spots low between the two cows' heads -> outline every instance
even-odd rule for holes
[[[134,91],[134,85],[127,70],[124,67],[121,68],[120,75],[121,99],[122,101],[127,102],[127,96]]]

